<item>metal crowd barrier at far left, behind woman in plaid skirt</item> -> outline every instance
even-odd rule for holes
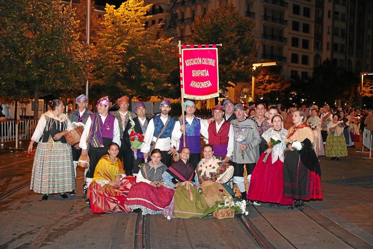
[[[0,121],[0,145],[4,146],[5,142],[15,142],[15,148],[22,140],[31,139],[34,134],[38,119],[21,119]]]

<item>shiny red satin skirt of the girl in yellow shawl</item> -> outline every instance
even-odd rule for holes
[[[93,213],[128,213],[131,208],[127,206],[127,195],[129,189],[135,184],[135,177],[123,178],[118,187],[113,187],[115,196],[112,196],[100,184],[92,183],[92,187],[90,186],[91,211]]]

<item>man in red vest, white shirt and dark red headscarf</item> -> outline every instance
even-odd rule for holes
[[[207,120],[201,120],[209,133],[208,143],[214,148],[214,156],[228,162],[233,154],[234,133],[232,125],[223,119],[223,106],[218,104],[213,109],[214,121],[208,124]],[[210,120],[210,119],[209,119]]]

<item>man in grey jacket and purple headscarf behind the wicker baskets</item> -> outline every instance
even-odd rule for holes
[[[81,94],[76,98],[76,105],[78,105],[78,109],[75,111],[72,111],[69,115],[69,119],[71,122],[76,122],[76,123],[82,123],[85,125],[87,122],[88,117],[93,113],[87,108],[87,97],[84,94]],[[71,146],[72,149],[72,160],[74,164],[74,173],[75,173],[75,178],[76,178],[76,166],[78,166],[78,160],[79,156],[82,153],[82,149],[79,148],[79,140],[75,145]],[[87,168],[85,168],[85,173],[87,173]],[[75,189],[70,192],[70,195],[76,195]]]

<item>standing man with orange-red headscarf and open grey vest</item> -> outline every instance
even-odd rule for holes
[[[135,118],[136,114],[128,111],[129,100],[127,96],[123,96],[117,100],[119,110],[112,113],[113,116],[118,120],[119,133],[120,133],[120,146],[117,157],[122,162],[123,169],[126,171],[126,175],[132,174],[133,162],[132,162],[132,150],[126,145],[124,141],[124,130],[129,121],[129,116]],[[122,161],[123,160],[123,161]]]

